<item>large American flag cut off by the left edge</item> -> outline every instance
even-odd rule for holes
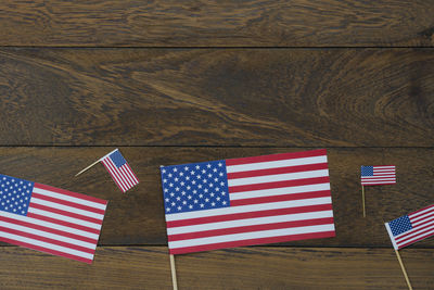
[[[0,174],[0,240],[90,264],[106,204]]]

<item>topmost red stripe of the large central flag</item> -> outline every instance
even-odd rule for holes
[[[258,163],[258,162],[279,161],[279,160],[290,160],[290,159],[314,157],[314,156],[321,156],[321,155],[327,155],[326,149],[304,151],[304,152],[261,155],[261,156],[254,156],[254,157],[228,159],[228,160],[226,160],[226,166],[241,165],[241,164],[248,164],[248,163]]]

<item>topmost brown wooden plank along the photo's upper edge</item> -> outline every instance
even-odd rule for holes
[[[432,47],[432,0],[2,1],[0,46]]]

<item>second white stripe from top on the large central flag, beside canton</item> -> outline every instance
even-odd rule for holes
[[[329,176],[329,169],[229,179],[229,187]]]

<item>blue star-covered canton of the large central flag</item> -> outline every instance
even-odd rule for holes
[[[230,205],[224,160],[162,166],[161,172],[166,214]]]

